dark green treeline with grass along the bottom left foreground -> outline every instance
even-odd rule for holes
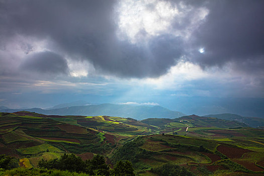
[[[64,154],[59,159],[42,159],[39,161],[38,166],[39,168],[32,169],[16,168],[19,167],[17,158],[0,155],[0,175],[52,175],[55,172],[59,173],[59,175],[135,175],[130,161],[120,160],[111,169],[102,155],[95,155],[93,159],[83,161],[75,154]]]

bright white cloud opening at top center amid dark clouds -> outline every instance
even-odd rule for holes
[[[209,14],[206,8],[159,0],[124,0],[116,9],[121,40],[132,43],[162,34],[188,38]],[[186,23],[187,18],[188,23]]]

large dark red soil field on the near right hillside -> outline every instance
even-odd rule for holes
[[[243,149],[243,148],[234,148],[228,147],[225,145],[219,145],[217,150],[229,158],[240,158],[244,153],[252,152],[251,150]]]

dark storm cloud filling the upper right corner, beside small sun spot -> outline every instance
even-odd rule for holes
[[[237,70],[261,72],[264,1],[209,1],[207,8],[206,22],[193,35],[195,61],[202,66],[231,62]],[[205,53],[199,53],[199,47],[204,47]]]

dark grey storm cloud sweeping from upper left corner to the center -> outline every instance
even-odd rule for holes
[[[48,38],[53,51],[87,59],[97,70],[121,77],[165,73],[181,56],[181,39],[162,35],[148,46],[118,40],[114,5],[115,1],[3,1],[1,38]]]

